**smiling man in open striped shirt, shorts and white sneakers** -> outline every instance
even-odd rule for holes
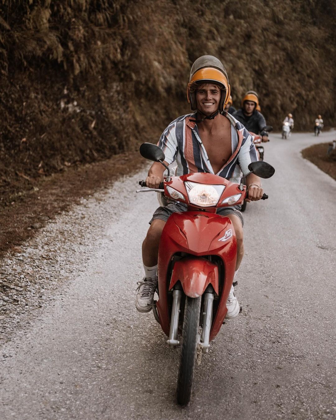
[[[258,160],[250,134],[239,121],[224,111],[229,96],[229,81],[222,63],[212,55],[198,58],[191,68],[188,84],[188,102],[196,112],[172,121],[158,143],[164,151],[164,162],[167,165],[176,160],[176,176],[208,172],[239,184],[242,174],[249,172],[249,163]],[[159,188],[163,173],[164,166],[154,162],[148,171],[146,185],[149,188]],[[260,178],[250,173],[246,177],[246,184],[248,201],[261,199],[263,189]],[[170,202],[159,207],[149,222],[151,226],[142,246],[145,278],[138,282],[135,300],[139,312],[149,312],[154,301],[158,248],[164,225],[172,213],[186,210],[186,205]],[[237,273],[244,255],[240,206],[221,208],[217,213],[227,216],[233,223],[237,236]],[[240,312],[233,286],[227,309],[227,319],[234,318]]]

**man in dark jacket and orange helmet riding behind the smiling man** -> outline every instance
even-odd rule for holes
[[[268,133],[263,131],[263,128],[266,127],[266,120],[263,114],[257,111],[258,105],[257,92],[249,90],[242,99],[242,108],[237,110],[233,116],[245,126],[247,131],[252,131],[255,134],[260,133],[262,141],[268,142]]]

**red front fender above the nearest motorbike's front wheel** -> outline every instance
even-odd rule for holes
[[[218,267],[213,262],[201,257],[188,256],[174,264],[169,290],[181,282],[182,289],[189,297],[202,296],[209,284],[218,294],[219,273]]]

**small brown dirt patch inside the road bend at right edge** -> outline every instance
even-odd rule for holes
[[[336,150],[327,155],[329,144],[331,143],[313,144],[302,150],[302,156],[336,180]]]

